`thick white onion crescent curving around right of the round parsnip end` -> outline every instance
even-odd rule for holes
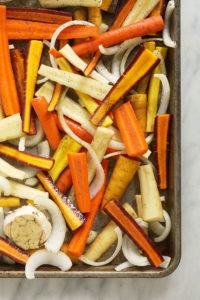
[[[65,240],[67,231],[65,219],[54,201],[38,197],[34,203],[47,209],[51,216],[52,231],[44,246],[48,251],[56,253]]]

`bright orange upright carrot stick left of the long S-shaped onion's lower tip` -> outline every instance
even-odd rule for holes
[[[88,183],[87,158],[84,152],[68,153],[77,206],[80,212],[90,212],[90,191]]]

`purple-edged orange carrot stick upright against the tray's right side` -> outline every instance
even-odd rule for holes
[[[166,189],[167,184],[167,158],[171,115],[159,115],[155,120],[155,151],[158,168],[158,185]]]

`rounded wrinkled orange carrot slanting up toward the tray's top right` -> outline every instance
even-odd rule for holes
[[[131,25],[105,32],[95,38],[73,46],[78,55],[86,55],[98,50],[100,45],[109,47],[134,37],[156,33],[164,28],[161,16],[149,17]]]

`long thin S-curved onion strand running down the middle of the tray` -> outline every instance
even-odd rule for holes
[[[64,131],[72,139],[74,139],[76,142],[78,142],[79,144],[81,144],[83,147],[85,147],[88,150],[91,158],[93,159],[94,165],[96,166],[96,175],[95,175],[95,178],[93,179],[92,183],[90,184],[90,197],[93,198],[98,193],[98,191],[101,189],[101,187],[104,183],[105,173],[102,168],[102,165],[99,162],[98,157],[97,157],[95,151],[92,149],[91,145],[88,144],[87,142],[83,141],[76,134],[74,134],[73,131],[66,124],[61,105],[58,106],[57,112],[58,112],[59,121],[60,121]]]

